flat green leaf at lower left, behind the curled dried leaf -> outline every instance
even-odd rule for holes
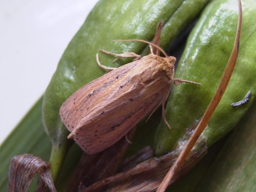
[[[41,97],[24,116],[0,146],[0,192],[7,191],[8,171],[11,158],[23,153],[32,153],[48,161],[51,142],[43,130]],[[32,180],[28,191],[35,191],[37,178]]]

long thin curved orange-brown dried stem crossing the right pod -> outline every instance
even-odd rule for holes
[[[236,31],[236,39],[234,42],[233,50],[230,54],[230,57],[228,59],[228,63],[226,65],[226,68],[223,72],[223,76],[221,78],[221,82],[219,83],[219,87],[216,90],[215,95],[213,96],[213,99],[211,100],[210,104],[208,105],[208,108],[206,109],[204,115],[202,116],[202,119],[200,120],[197,128],[195,129],[193,135],[189,138],[186,146],[181,151],[178,159],[175,161],[165,178],[163,179],[161,185],[159,186],[157,192],[164,192],[167,186],[169,185],[170,181],[175,177],[175,174],[178,172],[179,168],[182,166],[183,162],[189,155],[189,152],[197,142],[197,139],[200,137],[201,133],[204,131],[206,125],[208,124],[211,115],[213,114],[214,110],[216,109],[217,105],[219,104],[226,87],[228,86],[228,82],[232,76],[232,72],[235,68],[238,52],[239,52],[239,41],[240,41],[240,35],[241,35],[241,25],[242,25],[242,6],[241,1],[238,1],[238,23],[237,23],[237,31]]]

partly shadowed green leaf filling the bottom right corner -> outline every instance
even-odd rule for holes
[[[256,101],[227,137],[167,192],[256,190]]]

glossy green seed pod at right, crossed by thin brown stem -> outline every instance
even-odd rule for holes
[[[216,108],[204,135],[211,146],[228,133],[245,114],[256,94],[256,2],[244,0],[240,52],[236,68],[221,102]],[[156,133],[155,154],[171,151],[184,130],[202,117],[215,94],[220,78],[233,48],[237,26],[237,1],[217,0],[204,10],[189,35],[186,48],[178,63],[176,77],[202,83],[201,86],[174,85],[166,106],[166,117]],[[249,103],[232,108],[231,103],[242,100],[252,92]]]

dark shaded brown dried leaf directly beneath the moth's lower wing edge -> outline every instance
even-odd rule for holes
[[[136,128],[132,129],[127,134],[129,140],[132,140],[135,129]],[[83,153],[67,191],[80,191],[86,186],[114,175],[119,168],[119,164],[121,163],[129,144],[130,143],[127,142],[126,137],[124,136],[113,146],[100,153],[94,155]]]

